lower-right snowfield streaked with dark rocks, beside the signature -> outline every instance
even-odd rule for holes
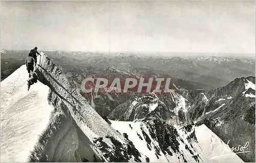
[[[243,162],[204,124],[175,127],[158,120],[111,123],[150,162]]]

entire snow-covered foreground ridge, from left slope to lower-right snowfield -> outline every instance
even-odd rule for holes
[[[212,151],[219,154],[225,145],[206,126],[188,125],[184,131],[157,120],[130,122],[141,138],[130,134],[120,125],[129,122],[102,119],[56,62],[44,53],[39,60],[29,91],[25,65],[1,82],[1,162],[209,161]],[[138,139],[146,141],[144,148]],[[227,152],[211,160],[242,162],[230,148]]]

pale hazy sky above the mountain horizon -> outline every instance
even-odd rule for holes
[[[1,46],[255,51],[254,2],[1,2]]]

